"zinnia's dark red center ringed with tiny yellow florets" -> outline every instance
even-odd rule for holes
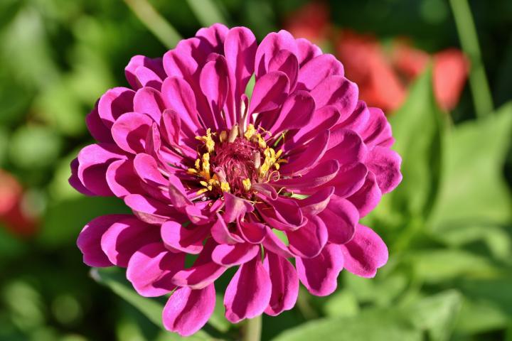
[[[196,136],[203,141],[194,168],[188,173],[195,175],[203,188],[198,195],[216,197],[224,192],[240,197],[251,197],[254,183],[265,183],[272,177],[279,177],[279,164],[286,162],[280,158],[282,150],[274,151],[267,146],[264,136],[252,124],[242,134],[242,129],[235,124],[230,131],[212,133],[210,129],[205,136]]]

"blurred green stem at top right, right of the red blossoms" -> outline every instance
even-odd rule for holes
[[[469,86],[473,94],[473,102],[476,116],[481,118],[493,111],[493,101],[489,82],[481,60],[481,52],[476,35],[473,16],[467,0],[450,0],[454,14],[455,25],[459,32],[462,50],[471,61],[471,71],[469,72]]]

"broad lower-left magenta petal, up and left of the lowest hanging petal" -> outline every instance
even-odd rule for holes
[[[161,242],[147,244],[129,260],[127,279],[141,296],[162,296],[174,290],[172,276],[184,264],[185,254],[174,254]]]

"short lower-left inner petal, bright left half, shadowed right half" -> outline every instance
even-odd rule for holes
[[[187,228],[171,220],[161,225],[161,239],[164,244],[187,254],[199,254],[203,250],[203,239],[207,235],[208,229],[202,226]]]

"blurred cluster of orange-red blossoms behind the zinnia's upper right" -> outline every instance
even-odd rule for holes
[[[395,38],[385,49],[375,36],[347,29],[336,30],[329,21],[329,9],[322,2],[306,4],[289,16],[285,27],[296,37],[319,45],[333,45],[346,76],[359,86],[360,97],[368,105],[385,112],[398,109],[407,96],[407,87],[432,59],[434,95],[444,110],[457,106],[469,72],[469,61],[461,50],[448,48],[430,55],[413,48],[405,38]]]

